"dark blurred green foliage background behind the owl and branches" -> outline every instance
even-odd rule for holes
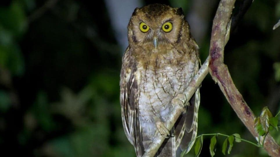
[[[218,0],[0,2],[1,154],[135,156],[121,124],[119,72],[129,17],[149,3],[183,8],[203,62]],[[280,106],[280,28],[272,30],[279,19],[280,1],[255,0],[225,48],[234,83],[256,115],[264,106],[275,115]],[[198,134],[239,133],[256,142],[209,75],[200,106]],[[272,134],[279,143],[279,132]],[[223,156],[224,139],[218,136],[215,156]],[[209,142],[201,156],[210,156]],[[267,154],[242,142],[226,156]]]

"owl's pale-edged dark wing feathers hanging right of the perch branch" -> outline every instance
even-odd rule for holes
[[[180,143],[180,148],[184,151],[186,150],[186,153],[188,153],[191,148],[193,147],[193,144],[195,143],[195,138],[197,136],[197,127],[198,127],[198,108],[200,104],[200,93],[199,88],[195,92],[195,102],[194,104],[192,102],[191,106],[188,107],[188,110],[186,112],[186,121],[185,121],[185,132],[184,136],[182,138],[182,141]],[[192,120],[192,122],[190,121]]]

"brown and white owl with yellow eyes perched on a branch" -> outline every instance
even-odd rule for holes
[[[162,4],[136,8],[128,23],[128,41],[120,79],[128,140],[137,156],[145,153],[158,133],[166,138],[156,156],[189,151],[197,135],[200,94],[198,89],[190,102],[184,102],[183,93],[198,72],[200,60],[182,8]],[[180,104],[185,111],[168,130],[169,112]]]

